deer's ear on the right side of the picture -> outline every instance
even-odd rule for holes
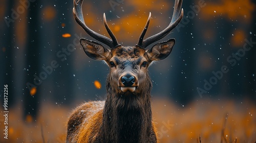
[[[157,43],[151,49],[146,51],[147,56],[151,61],[163,60],[169,56],[170,52],[172,52],[174,44],[175,39]]]

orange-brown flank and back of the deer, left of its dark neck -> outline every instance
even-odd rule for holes
[[[67,142],[93,142],[102,124],[104,101],[83,103],[69,117]]]

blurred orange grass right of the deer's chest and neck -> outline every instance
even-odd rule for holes
[[[197,142],[199,136],[202,142],[220,142],[222,129],[228,142],[236,137],[238,141],[254,142],[255,109],[255,105],[249,102],[199,100],[177,107],[166,99],[153,100],[153,117],[158,123],[160,142]],[[226,113],[228,117],[224,126]]]

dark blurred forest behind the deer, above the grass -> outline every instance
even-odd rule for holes
[[[174,1],[167,0],[85,1],[83,15],[92,30],[108,36],[105,13],[119,43],[135,45],[148,13],[152,19],[145,37],[168,26],[173,7]],[[179,28],[160,40],[175,38],[173,52],[149,68],[153,98],[167,97],[179,106],[201,98],[255,102],[256,44],[247,44],[250,50],[243,50],[246,41],[256,41],[255,1],[184,1],[182,8]],[[36,119],[45,103],[75,107],[82,101],[105,98],[109,68],[89,59],[77,44],[81,37],[94,39],[75,22],[72,9],[73,2],[66,0],[1,1],[0,96],[3,98],[7,84],[9,107],[20,105],[25,118],[29,114]],[[65,53],[65,49],[70,51]],[[43,66],[52,62],[57,67],[44,75]],[[220,74],[223,66],[228,71]],[[44,79],[35,85],[40,74]],[[212,87],[205,85],[210,80]],[[100,82],[100,89],[95,81]],[[36,86],[33,96],[28,84]]]

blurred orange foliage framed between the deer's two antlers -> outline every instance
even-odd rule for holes
[[[145,38],[147,38],[147,35],[151,36],[156,34],[153,33],[153,31],[160,32],[168,26],[171,20],[170,18],[172,17],[172,12],[169,12],[169,10],[174,9],[174,1],[170,3],[168,1],[152,2],[148,0],[132,0],[125,1],[125,7],[132,7],[135,10],[126,11],[124,9],[124,13],[117,13],[116,11],[112,11],[112,13],[115,13],[114,15],[116,15],[118,18],[111,19],[110,15],[106,14],[106,20],[110,29],[113,31],[114,35],[116,35],[119,43],[131,42],[136,44],[139,35],[146,24],[146,20],[150,12],[152,13],[152,20],[150,23],[150,28],[148,28],[150,30],[147,31]],[[121,6],[116,7],[116,9],[118,8],[121,8]],[[96,13],[92,11],[95,11],[95,7],[93,7],[91,3],[88,2],[86,5],[83,5],[83,16],[86,25],[95,32],[109,37],[103,25],[103,13]],[[168,15],[166,15],[166,13]],[[161,28],[156,30],[156,27],[160,26]]]

